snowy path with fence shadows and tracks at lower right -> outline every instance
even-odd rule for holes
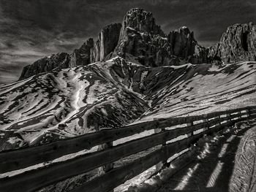
[[[158,192],[256,191],[256,126],[241,125],[206,142],[192,163],[170,177]]]

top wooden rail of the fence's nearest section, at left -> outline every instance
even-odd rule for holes
[[[23,169],[27,166],[50,161],[80,150],[90,149],[96,145],[138,134],[156,127],[157,122],[146,122],[124,128],[97,131],[46,145],[3,151],[0,153],[0,173]]]

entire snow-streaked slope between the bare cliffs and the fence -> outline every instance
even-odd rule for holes
[[[146,67],[116,57],[0,87],[1,150],[256,103],[256,63]]]

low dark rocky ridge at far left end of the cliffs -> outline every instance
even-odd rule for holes
[[[67,53],[58,53],[45,58],[41,58],[38,61],[35,61],[34,64],[25,66],[21,72],[19,80],[24,80],[42,72],[50,72],[57,67],[62,69],[68,68],[69,61],[70,56]]]

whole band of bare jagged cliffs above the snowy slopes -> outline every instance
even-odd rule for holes
[[[252,23],[230,26],[217,45],[206,49],[198,45],[189,28],[165,34],[151,12],[134,8],[124,15],[122,24],[105,26],[95,42],[89,38],[71,55],[51,55],[24,67],[20,80],[58,66],[86,66],[115,56],[144,66],[256,61],[256,26]]]

